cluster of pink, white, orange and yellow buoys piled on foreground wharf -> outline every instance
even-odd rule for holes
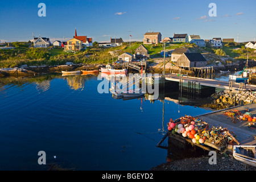
[[[181,134],[183,137],[188,137],[192,139],[193,143],[201,144],[204,143],[205,138],[201,138],[195,129],[195,121],[191,121],[185,125],[181,123],[174,123],[172,119],[168,123],[168,130],[172,134]]]

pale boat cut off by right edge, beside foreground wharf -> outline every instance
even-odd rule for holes
[[[242,163],[256,167],[256,146],[233,146],[233,156]]]

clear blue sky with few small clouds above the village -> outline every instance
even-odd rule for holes
[[[46,17],[38,16],[38,4],[46,4]],[[209,3],[216,3],[217,16],[210,17]],[[142,41],[147,31],[234,38],[238,42],[256,37],[255,0],[73,0],[0,1],[1,42],[28,41],[35,36],[67,40],[77,35],[106,42],[110,37]]]

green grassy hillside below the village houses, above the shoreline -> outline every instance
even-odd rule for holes
[[[19,67],[20,65],[57,65],[65,64],[67,61],[73,63],[112,63],[117,59],[118,55],[129,52],[134,54],[135,49],[141,45],[142,42],[123,43],[123,46],[118,47],[88,47],[85,51],[79,51],[76,53],[67,53],[63,51],[63,48],[31,48],[31,44],[27,42],[15,42],[13,46],[15,49],[0,49],[0,68]],[[148,53],[151,58],[163,57],[160,52],[163,50],[162,44],[158,46],[144,45],[148,49]],[[215,48],[205,47],[200,48],[195,44],[190,43],[167,43],[166,51],[170,51],[175,48],[192,48],[195,52],[212,53],[216,54]],[[224,55],[229,55],[234,59],[246,59],[247,49],[244,48],[244,44],[226,43],[221,50]],[[249,49],[249,59],[256,59],[254,49]]]

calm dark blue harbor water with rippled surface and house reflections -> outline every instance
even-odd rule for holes
[[[166,162],[167,150],[155,146],[170,118],[210,112],[176,98],[117,100],[97,92],[100,82],[89,75],[1,78],[0,170],[45,170],[39,151],[47,164],[76,170],[148,170]]]

